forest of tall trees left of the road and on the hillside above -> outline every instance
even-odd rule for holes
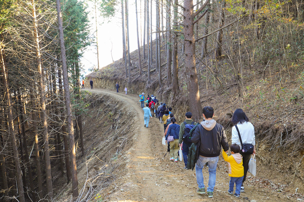
[[[98,68],[85,82],[92,78],[97,88],[107,88],[119,79],[130,93],[142,92],[141,86],[183,107],[180,111],[192,111],[195,121],[212,96],[217,108],[246,108],[270,150],[293,148],[288,158],[297,156],[296,167],[290,172],[303,179],[304,2],[95,0],[90,5],[93,23],[84,1],[0,2],[0,200],[60,201],[55,170],[71,187],[73,200],[90,201],[98,193],[86,194],[77,175],[90,144],[83,133],[89,103],[79,79],[88,46],[96,47]],[[130,5],[136,12],[134,52]],[[119,17],[123,39],[122,59],[103,68],[99,15]],[[101,80],[112,83],[103,86]]]

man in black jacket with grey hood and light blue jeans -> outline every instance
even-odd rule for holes
[[[212,119],[214,115],[213,108],[206,106],[203,108],[204,120],[194,130],[191,141],[192,143],[200,142],[199,159],[195,165],[196,181],[199,185],[196,191],[199,194],[205,194],[204,177],[202,168],[205,163],[209,164],[209,182],[207,188],[208,197],[213,197],[213,190],[216,180],[216,165],[219,160],[219,154],[222,146],[225,152],[228,152],[229,145],[225,134],[224,127]]]

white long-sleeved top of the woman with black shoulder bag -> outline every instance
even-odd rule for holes
[[[245,121],[242,124],[238,123],[237,128],[240,131],[243,144],[247,143],[255,145],[254,126],[250,122]],[[238,144],[240,148],[242,148],[240,138],[237,134],[237,129],[235,126],[232,127],[231,143]]]

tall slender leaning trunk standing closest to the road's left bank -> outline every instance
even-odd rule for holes
[[[67,111],[67,130],[69,134],[70,143],[70,159],[71,159],[71,173],[72,173],[72,192],[73,197],[78,197],[78,180],[77,180],[77,166],[76,166],[76,153],[75,153],[75,140],[74,140],[74,126],[72,121],[72,110],[71,110],[71,96],[69,90],[69,82],[67,75],[67,61],[65,56],[65,46],[64,46],[64,34],[63,34],[63,24],[62,24],[62,14],[60,0],[56,0],[57,8],[57,18],[59,27],[59,41],[60,41],[60,56],[61,65],[63,71],[63,83],[64,83],[64,96],[65,96],[65,106]]]

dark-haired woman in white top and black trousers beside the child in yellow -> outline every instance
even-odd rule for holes
[[[254,146],[253,153],[255,154],[255,136],[254,136],[254,126],[248,122],[248,118],[242,109],[236,109],[231,118],[233,123],[232,132],[231,132],[231,143],[237,144],[240,146],[241,151],[240,154],[243,156],[243,167],[244,167],[244,178],[241,186],[241,192],[244,191],[244,182],[246,180],[247,171],[248,171],[248,163],[251,157],[251,154],[244,153],[242,151],[242,145],[240,143],[240,138],[237,132],[237,128],[240,131],[240,136],[242,139],[242,143],[244,144],[252,144]]]

